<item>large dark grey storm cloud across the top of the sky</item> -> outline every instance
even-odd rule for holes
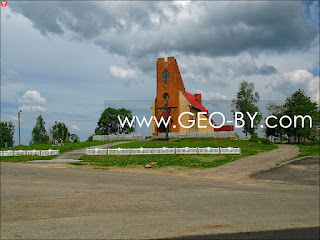
[[[146,71],[144,58],[308,48],[317,32],[296,2],[11,2],[43,35],[91,41]],[[265,66],[262,74],[273,71]]]

